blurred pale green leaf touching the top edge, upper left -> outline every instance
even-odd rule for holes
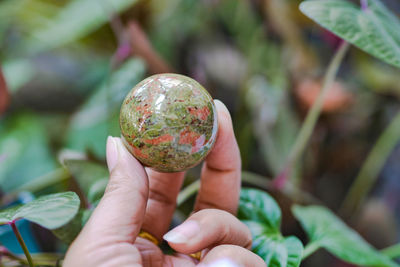
[[[46,27],[32,33],[30,49],[35,52],[58,47],[80,39],[107,23],[110,15],[120,13],[137,0],[72,0],[49,18]]]

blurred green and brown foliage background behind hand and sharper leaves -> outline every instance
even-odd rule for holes
[[[342,63],[290,183],[272,182],[341,42],[300,13],[300,2],[0,0],[3,208],[73,190],[90,209],[107,181],[105,141],[120,135],[123,98],[151,74],[176,72],[228,106],[243,184],[268,189],[277,199],[285,235],[306,243],[290,206],[317,203],[340,214],[376,248],[397,243],[400,136],[382,133],[400,111],[400,71],[357,48]],[[398,0],[383,2],[400,13]],[[370,161],[377,164],[366,167],[378,140]],[[343,208],[360,175],[361,190],[351,196],[356,204]],[[195,168],[185,184],[198,177]],[[190,212],[192,200],[179,207],[176,221]],[[32,251],[65,250],[50,232],[25,224]],[[0,243],[18,253],[7,234],[0,228]],[[302,266],[349,265],[318,251]]]

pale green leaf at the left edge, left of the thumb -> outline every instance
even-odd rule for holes
[[[47,229],[68,223],[78,212],[80,200],[74,192],[39,197],[27,204],[0,212],[0,224],[26,219]]]

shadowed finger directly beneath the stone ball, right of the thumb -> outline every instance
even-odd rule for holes
[[[184,172],[146,171],[149,176],[149,199],[142,229],[161,240],[170,226]]]

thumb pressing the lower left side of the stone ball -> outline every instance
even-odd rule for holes
[[[111,242],[133,243],[142,226],[148,198],[148,179],[143,166],[120,138],[107,139],[110,180],[104,196],[85,231]]]

